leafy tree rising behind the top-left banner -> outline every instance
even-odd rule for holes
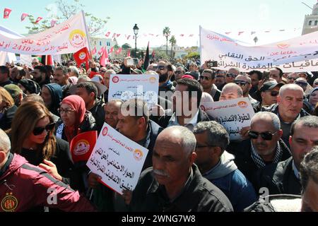
[[[37,33],[47,30],[48,28],[51,28],[52,19],[57,20],[57,23],[62,23],[85,7],[83,4],[81,4],[80,0],[73,0],[73,2],[57,0],[55,3],[56,4],[50,5],[52,7],[45,8],[49,14],[49,18],[41,20],[40,23],[35,23],[35,18],[31,15],[28,16],[31,26],[25,28],[28,29],[29,33]],[[98,18],[93,16],[92,13],[85,13],[85,17],[90,37],[100,35],[104,31],[103,29],[105,28],[107,20],[110,19],[110,17],[105,19]]]

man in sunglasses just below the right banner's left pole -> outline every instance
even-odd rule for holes
[[[220,99],[221,91],[216,87],[216,74],[211,69],[205,69],[202,71],[200,78],[200,83],[204,88],[204,92],[208,93],[213,97],[214,101]]]

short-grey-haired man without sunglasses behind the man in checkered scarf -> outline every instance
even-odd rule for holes
[[[277,96],[277,104],[264,107],[262,110],[277,114],[283,129],[283,141],[289,147],[290,127],[296,119],[309,115],[303,106],[304,90],[299,85],[283,85]]]

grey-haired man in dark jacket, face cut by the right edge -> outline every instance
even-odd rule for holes
[[[318,145],[318,117],[302,117],[294,121],[290,130],[290,150],[293,157],[261,172],[260,186],[269,189],[269,194],[301,194],[300,162],[304,155]]]

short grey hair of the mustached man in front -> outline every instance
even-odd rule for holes
[[[170,126],[164,129],[163,131],[178,131],[180,134],[180,138],[182,138],[181,147],[182,150],[184,150],[184,153],[189,155],[190,153],[193,153],[194,150],[196,150],[196,137],[194,136],[194,133],[187,129],[187,127],[184,126]]]

